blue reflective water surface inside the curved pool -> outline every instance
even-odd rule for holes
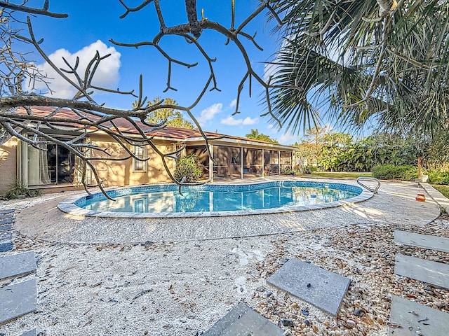
[[[279,181],[240,186],[143,186],[82,197],[75,205],[90,211],[126,213],[203,213],[288,208],[347,200],[362,193],[342,183]]]

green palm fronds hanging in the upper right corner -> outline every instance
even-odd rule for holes
[[[328,104],[344,125],[448,128],[449,1],[279,0],[273,121],[297,131]]]

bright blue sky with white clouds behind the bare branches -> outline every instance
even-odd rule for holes
[[[137,6],[139,1],[126,1],[128,6]],[[258,1],[236,1],[236,26],[247,17],[255,8]],[[42,6],[42,1],[30,0],[28,6]],[[167,26],[178,25],[187,22],[184,0],[163,0],[161,8]],[[199,0],[199,8],[204,8],[204,15],[208,20],[220,22],[228,27],[231,22],[231,1],[207,1]],[[144,92],[148,99],[156,97],[170,97],[178,104],[189,106],[194,102],[203,85],[208,79],[208,64],[193,45],[189,45],[183,38],[168,36],[163,38],[161,46],[168,54],[182,62],[199,62],[198,66],[186,69],[183,66],[173,64],[171,85],[177,91],[166,88],[168,62],[153,47],[142,46],[126,48],[113,45],[114,41],[123,43],[135,43],[139,41],[151,41],[159,31],[159,22],[156,17],[154,4],[150,3],[138,13],[130,13],[126,18],[119,19],[124,13],[124,8],[119,0],[110,1],[50,1],[51,11],[68,13],[67,19],[54,19],[36,17],[32,18],[34,34],[36,38],[44,38],[41,48],[51,55],[51,59],[62,66],[61,56],[74,61],[76,55],[80,57],[80,67],[86,64],[93,56],[95,50],[100,54],[112,53],[98,71],[97,84],[120,90],[138,90],[138,80],[142,74]],[[200,13],[199,13],[200,15]],[[260,76],[264,76],[264,63],[274,55],[279,41],[271,34],[274,22],[267,23],[265,13],[259,15],[256,20],[248,25],[244,31],[253,35],[257,31],[256,41],[264,48],[257,50],[255,46],[245,38],[241,39],[246,45],[254,69]],[[225,45],[226,38],[215,31],[203,31],[199,42],[212,58],[217,57],[213,63],[217,77],[216,90],[207,92],[201,102],[193,110],[199,119],[203,130],[223,134],[244,136],[251,129],[259,130],[278,139],[281,144],[292,144],[297,137],[284,134],[269,127],[269,119],[260,117],[264,106],[260,104],[262,89],[253,81],[253,92],[249,97],[248,83],[241,94],[241,114],[232,116],[235,110],[234,104],[237,96],[237,87],[246,73],[243,57],[235,45]],[[49,67],[43,59],[34,54],[34,61],[39,68],[48,71]],[[65,83],[57,78],[52,80],[52,88],[56,91],[54,97],[72,97],[74,92]],[[42,87],[42,90],[45,88]],[[95,94],[94,98],[101,104],[129,109],[133,97],[117,94]]]

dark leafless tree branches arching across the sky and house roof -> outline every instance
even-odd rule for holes
[[[213,22],[204,18],[203,12],[201,13],[201,19],[199,20],[197,14],[197,3],[196,0],[185,0],[185,10],[187,13],[187,22],[177,25],[174,27],[166,27],[165,20],[163,18],[163,10],[159,6],[159,0],[145,0],[140,3],[139,6],[131,7],[126,4],[125,0],[119,0],[123,8],[125,8],[125,13],[120,16],[120,18],[125,18],[130,13],[138,12],[143,10],[150,3],[154,3],[156,9],[156,15],[159,19],[160,31],[155,34],[153,38],[149,38],[148,41],[138,41],[136,43],[123,43],[114,41],[110,39],[114,45],[122,47],[133,47],[139,48],[140,46],[147,45],[149,47],[155,48],[158,52],[163,55],[168,61],[168,71],[167,71],[167,86],[166,90],[176,90],[175,87],[171,86],[171,78],[173,76],[173,64],[178,64],[180,66],[185,66],[187,69],[196,66],[199,62],[188,63],[183,62],[180,59],[174,59],[170,57],[168,52],[164,50],[159,43],[165,36],[175,35],[182,38],[187,43],[193,44],[197,50],[199,50],[201,57],[208,64],[209,76],[206,83],[203,85],[203,89],[198,94],[194,102],[189,106],[175,106],[170,104],[163,104],[163,101],[151,106],[143,107],[147,101],[147,97],[142,94],[142,76],[140,76],[139,90],[135,92],[114,90],[108,87],[99,87],[98,85],[93,85],[95,79],[95,73],[98,71],[101,62],[109,57],[109,55],[100,55],[96,52],[91,58],[86,66],[86,70],[81,73],[79,59],[77,58],[75,62],[69,62],[67,59],[63,59],[65,62],[64,67],[58,67],[55,63],[48,57],[48,54],[43,50],[43,39],[38,39],[34,36],[34,31],[32,27],[32,21],[27,18],[27,30],[29,36],[22,36],[18,34],[18,31],[9,30],[6,32],[5,38],[10,38],[11,40],[18,40],[25,43],[29,43],[34,47],[34,49],[39,53],[39,55],[51,66],[51,68],[57,73],[58,76],[63,78],[67,83],[72,85],[76,89],[76,93],[72,99],[60,99],[53,97],[43,97],[41,94],[29,94],[22,91],[22,82],[25,78],[37,78],[47,84],[48,89],[50,79],[46,78],[45,74],[39,72],[39,69],[33,69],[29,65],[26,57],[24,55],[16,54],[13,50],[6,50],[7,59],[5,71],[3,77],[5,78],[5,87],[8,87],[9,93],[6,97],[0,97],[0,141],[6,139],[5,134],[10,136],[18,137],[18,139],[24,141],[30,146],[45,150],[46,144],[58,144],[67,148],[67,151],[76,155],[77,158],[81,160],[81,176],[82,183],[86,191],[90,187],[98,187],[105,193],[103,188],[103,181],[101,181],[98,172],[92,162],[98,160],[128,160],[133,158],[139,161],[150,160],[147,158],[139,158],[133,151],[130,150],[130,146],[150,146],[152,151],[159,155],[163,166],[166,169],[166,173],[170,176],[175,183],[178,185],[197,185],[206,183],[207,181],[200,181],[199,183],[185,183],[184,181],[176,181],[168,165],[169,160],[177,160],[180,153],[184,150],[185,146],[182,148],[175,148],[173,151],[164,153],[154,142],[154,132],[156,130],[163,130],[166,126],[165,123],[151,124],[147,122],[147,115],[152,111],[158,109],[177,109],[185,111],[190,118],[192,118],[196,127],[198,127],[201,137],[206,141],[206,148],[208,155],[213,160],[213,155],[210,153],[210,141],[220,139],[221,137],[210,136],[203,132],[201,125],[198,120],[194,117],[193,109],[208,90],[218,90],[218,80],[215,76],[215,69],[213,62],[215,62],[216,57],[211,57],[206,49],[201,45],[199,38],[205,29],[215,31],[220,36],[225,36],[228,41],[232,41],[234,45],[237,46],[243,61],[246,64],[247,71],[241,79],[241,83],[237,89],[237,106],[236,111],[239,110],[240,94],[243,91],[245,83],[248,83],[249,95],[253,90],[252,80],[255,80],[264,89],[264,94],[267,100],[269,99],[268,90],[273,87],[269,83],[265,83],[260,75],[253,69],[253,65],[248,57],[248,52],[245,46],[240,41],[240,38],[245,38],[246,40],[253,43],[255,48],[262,50],[260,45],[255,41],[256,34],[248,34],[246,29],[248,24],[260,15],[264,10],[268,10],[274,18],[281,24],[281,20],[276,15],[275,10],[270,6],[270,0],[260,0],[260,6],[257,7],[251,13],[248,18],[243,20],[237,28],[235,25],[235,3],[232,1],[232,24],[231,27],[226,28],[220,25],[218,22]],[[47,15],[53,16],[54,18],[65,18],[67,15],[52,13],[48,11],[48,1],[45,0],[42,9],[28,8],[25,6],[12,5],[11,3],[6,3],[5,1],[0,1],[0,6],[8,8],[9,10],[18,10],[24,13],[31,13],[36,15]],[[10,41],[11,41],[10,40]],[[1,50],[0,50],[1,52]],[[0,57],[1,53],[0,53]],[[1,73],[0,73],[1,76]],[[33,85],[34,86],[34,85]],[[102,91],[111,94],[127,94],[138,99],[133,109],[112,109],[103,104],[98,104],[93,98],[93,92]],[[165,91],[164,91],[165,92]],[[45,112],[40,111],[39,113],[34,113],[33,106],[42,106],[46,108]],[[70,113],[67,114],[69,111]],[[269,113],[271,113],[271,105],[269,104]],[[273,115],[272,115],[273,116]],[[276,118],[273,116],[273,118]],[[126,125],[124,127],[123,125]],[[52,132],[48,132],[52,130]],[[53,134],[66,133],[72,134],[69,139],[58,139],[57,136]],[[24,135],[28,134],[28,135]],[[123,155],[120,158],[111,157],[107,148],[100,148],[95,144],[89,144],[86,139],[91,137],[93,134],[106,134],[107,136],[114,139],[116,144],[123,150]],[[93,172],[94,183],[86,180],[88,169]],[[211,176],[210,176],[211,178]],[[210,179],[209,178],[209,179]],[[209,181],[209,180],[208,180]]]

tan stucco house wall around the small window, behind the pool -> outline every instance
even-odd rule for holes
[[[123,148],[109,137],[96,135],[91,137],[91,143],[107,149],[107,153],[111,155],[109,158],[123,158],[127,155]],[[172,148],[170,144],[166,143],[159,143],[158,147],[163,152]],[[131,146],[128,148],[132,151]],[[135,186],[138,184],[170,181],[168,174],[163,168],[161,158],[149,146],[147,146],[147,155],[151,159],[147,162],[146,172],[133,172],[133,159],[124,161],[107,160],[107,155],[101,154],[99,151],[94,151],[93,155],[100,155],[105,159],[93,161],[93,165],[105,186]],[[168,163],[171,166],[171,160],[168,160]],[[94,176],[92,178],[94,179]],[[94,180],[92,182],[95,183]]]

